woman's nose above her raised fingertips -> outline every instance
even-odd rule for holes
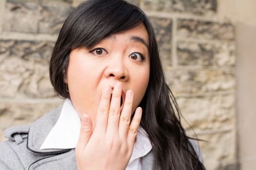
[[[105,70],[105,77],[113,77],[117,81],[127,81],[129,79],[128,70],[122,57],[113,57]]]

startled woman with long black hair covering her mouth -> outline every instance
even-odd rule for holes
[[[152,25],[137,6],[80,4],[60,30],[50,80],[65,102],[31,126],[4,132],[0,169],[205,169],[165,83]]]

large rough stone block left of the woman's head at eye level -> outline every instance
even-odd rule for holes
[[[0,98],[48,98],[50,41],[0,40]]]

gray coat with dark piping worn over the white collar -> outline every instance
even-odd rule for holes
[[[39,149],[59,119],[62,105],[31,126],[14,126],[3,132],[9,140],[0,143],[0,170],[77,170],[74,148]],[[191,143],[202,162],[197,144]],[[153,153],[150,151],[142,157],[142,169],[152,170],[152,167]]]

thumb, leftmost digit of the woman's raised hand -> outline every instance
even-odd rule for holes
[[[82,154],[84,151],[85,146],[87,145],[91,134],[92,134],[92,120],[91,118],[83,114],[81,118],[81,128],[80,128],[80,135],[78,139],[78,143],[76,146],[76,153]]]

